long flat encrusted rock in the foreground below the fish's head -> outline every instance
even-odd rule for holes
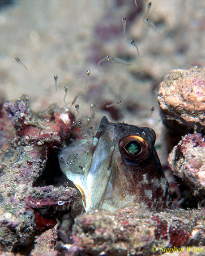
[[[73,238],[79,255],[152,255],[161,246],[205,245],[204,224],[204,209],[95,211],[75,219]]]

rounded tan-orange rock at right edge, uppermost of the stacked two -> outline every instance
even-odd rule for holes
[[[158,101],[166,126],[205,128],[205,73],[198,67],[174,69],[160,83]]]

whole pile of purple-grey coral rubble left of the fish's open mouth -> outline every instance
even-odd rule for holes
[[[3,108],[17,137],[8,150],[4,147],[1,150],[0,249],[18,251],[19,246],[29,245],[32,249],[37,232],[53,228],[56,223],[54,216],[44,216],[41,209],[45,206],[56,209],[57,205],[69,205],[76,199],[72,188],[34,187],[45,170],[50,152],[73,136],[74,116],[63,113],[57,106],[37,115],[29,109],[25,96],[5,102]],[[2,113],[5,116],[3,110]],[[10,137],[4,133],[5,141]],[[38,245],[39,240],[36,241]]]

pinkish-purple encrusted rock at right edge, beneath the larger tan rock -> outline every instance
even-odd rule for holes
[[[169,167],[194,195],[205,195],[205,141],[201,134],[188,134],[168,157]]]

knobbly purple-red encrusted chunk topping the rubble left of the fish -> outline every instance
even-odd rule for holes
[[[75,128],[74,115],[70,112],[63,113],[56,105],[51,105],[39,114],[32,112],[27,96],[5,102],[3,108],[24,144],[58,145],[63,139],[69,138]]]

